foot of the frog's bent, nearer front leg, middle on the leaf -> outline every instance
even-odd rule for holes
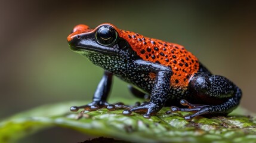
[[[124,108],[124,107],[123,107]],[[125,107],[127,110],[123,111],[124,115],[131,115],[132,112],[146,113],[143,117],[149,119],[151,115],[156,114],[161,108],[153,102],[144,102],[142,105],[135,107]]]

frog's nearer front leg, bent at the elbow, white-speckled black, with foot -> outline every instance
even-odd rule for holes
[[[150,61],[144,60],[136,60],[134,61],[134,67],[132,67],[133,71],[140,72],[153,72],[156,74],[155,83],[153,84],[153,88],[150,94],[150,101],[145,102],[142,105],[137,107],[133,107],[129,110],[125,110],[123,114],[131,114],[132,111],[135,112],[144,112],[144,117],[149,118],[150,115],[156,114],[167,100],[168,91],[170,88],[170,79],[172,75],[172,70],[170,67],[163,66],[161,64],[152,63]],[[151,86],[151,85],[149,85]]]

